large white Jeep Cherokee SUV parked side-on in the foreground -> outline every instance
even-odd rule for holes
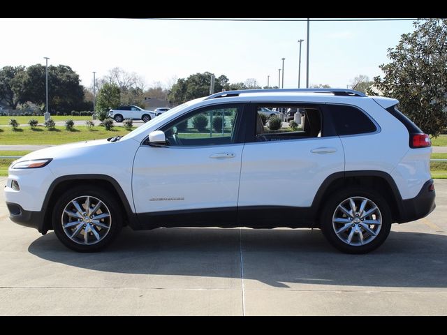
[[[398,101],[345,89],[223,91],[124,137],[34,151],[9,168],[10,218],[75,251],[124,225],[321,228],[346,253],[435,207],[429,137]],[[302,131],[260,108],[300,108]],[[297,241],[298,243],[298,241]]]

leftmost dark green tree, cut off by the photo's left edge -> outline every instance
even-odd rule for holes
[[[13,110],[24,102],[24,66],[3,66],[0,70],[0,102],[4,101]]]

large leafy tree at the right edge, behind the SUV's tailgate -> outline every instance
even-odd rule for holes
[[[414,27],[388,49],[390,63],[379,66],[385,75],[374,77],[374,86],[436,137],[447,127],[447,19],[418,20]]]

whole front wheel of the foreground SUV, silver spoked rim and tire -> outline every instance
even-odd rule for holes
[[[80,252],[99,251],[122,228],[122,211],[115,198],[96,186],[66,191],[54,205],[52,225],[57,238]]]

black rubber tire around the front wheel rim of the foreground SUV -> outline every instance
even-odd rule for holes
[[[108,211],[110,212],[110,221],[107,221],[107,225],[109,227],[108,231],[102,230],[102,228],[100,228],[99,226],[94,226],[94,224],[91,224],[91,227],[93,229],[96,229],[95,230],[96,234],[100,235],[101,232],[103,234],[102,239],[100,239],[98,242],[95,242],[94,244],[80,244],[82,242],[78,243],[76,241],[73,241],[70,237],[68,237],[65,229],[62,226],[64,220],[70,217],[64,214],[64,209],[66,209],[66,206],[68,206],[68,204],[71,204],[72,200],[82,198],[85,196],[89,196],[92,198],[96,198],[97,200],[100,200],[101,202],[103,202],[103,204],[105,204],[104,208],[108,209]],[[95,202],[92,202],[91,206],[94,206],[94,204]],[[80,204],[80,206],[82,207],[82,209],[85,209],[85,206],[83,206],[82,204]],[[103,213],[105,213],[105,211],[103,211]],[[103,219],[103,221],[104,220],[105,219]],[[74,221],[75,219],[73,218],[73,222]],[[82,219],[80,221],[82,221]],[[85,227],[87,224],[83,224],[83,227]],[[54,233],[56,234],[59,241],[61,241],[62,244],[64,244],[68,248],[71,248],[74,251],[79,251],[82,253],[100,251],[101,249],[108,246],[113,241],[113,239],[117,237],[122,228],[122,225],[123,225],[123,214],[117,200],[108,191],[105,191],[104,189],[98,188],[96,186],[85,185],[71,188],[70,190],[66,191],[59,197],[56,204],[54,204],[52,212],[52,226],[54,229]],[[73,229],[71,232],[76,230],[76,228],[78,228],[78,225],[73,226],[73,228],[70,228]],[[86,228],[82,228],[79,231],[79,234],[82,233],[82,235],[79,236],[84,235],[85,237],[85,230]],[[90,239],[90,241],[94,241],[94,238],[95,236],[93,232],[89,232],[87,239]]]

